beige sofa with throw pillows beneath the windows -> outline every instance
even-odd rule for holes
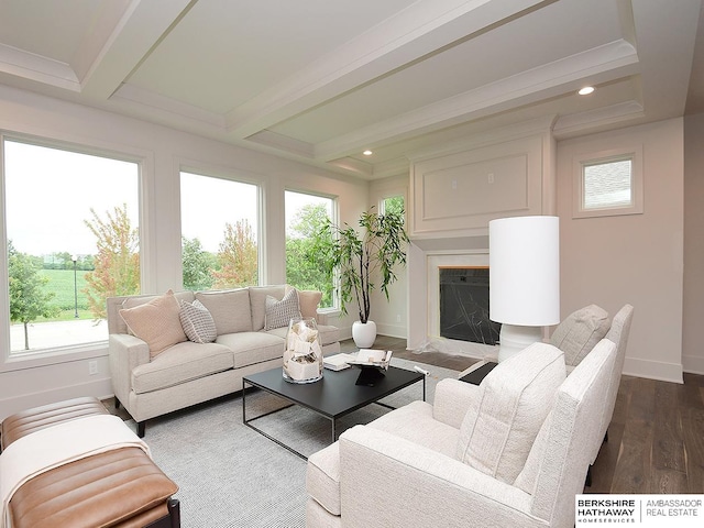
[[[138,435],[144,436],[150,418],[241,391],[243,376],[282,366],[288,317],[278,317],[278,328],[265,330],[266,299],[282,300],[290,289],[285,285],[252,286],[109,298],[116,405],[123,405],[138,422]],[[297,296],[301,316],[318,320],[323,353],[339,352],[338,328],[327,324],[317,310],[320,293],[297,292]],[[185,326],[178,319],[174,321],[179,304],[193,306],[196,300],[207,308],[210,323],[215,323],[213,342],[188,340]],[[130,329],[125,317],[131,320]]]

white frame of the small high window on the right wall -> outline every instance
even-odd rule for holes
[[[629,160],[630,193],[629,205],[606,207],[584,206],[584,169],[587,166],[616,163]],[[572,182],[572,218],[615,217],[622,215],[641,215],[644,212],[642,145],[628,148],[608,150],[582,154],[574,157]]]

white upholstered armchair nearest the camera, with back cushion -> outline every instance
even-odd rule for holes
[[[550,388],[556,351],[537,343],[481,386],[443,380],[433,406],[415,402],[345,431],[308,461],[307,526],[573,526],[615,345],[600,342],[566,378],[557,351],[562,381]],[[546,354],[549,364],[531,366]]]

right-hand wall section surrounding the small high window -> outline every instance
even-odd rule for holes
[[[588,304],[635,307],[624,372],[682,382],[683,120],[558,143],[562,317]],[[642,215],[572,218],[575,156],[639,143]],[[701,324],[701,322],[700,322]]]

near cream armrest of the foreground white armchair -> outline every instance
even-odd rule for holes
[[[340,486],[346,526],[548,526],[521,490],[364,426],[340,436]]]

